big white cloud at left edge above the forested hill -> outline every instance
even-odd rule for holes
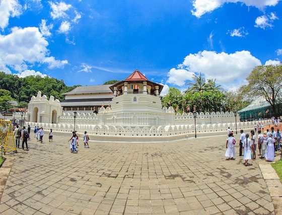
[[[49,68],[67,64],[67,60],[49,56],[47,46],[48,42],[38,28],[12,28],[10,34],[0,35],[0,67],[11,67],[21,72],[34,63],[47,63]]]

